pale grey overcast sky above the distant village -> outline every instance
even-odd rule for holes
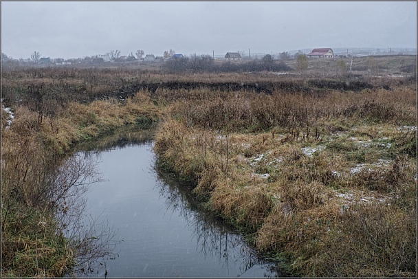
[[[1,1],[1,52],[78,58],[417,47],[416,1]]]

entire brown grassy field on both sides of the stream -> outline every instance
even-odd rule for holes
[[[77,142],[157,125],[159,168],[292,274],[415,276],[416,57],[285,65],[4,69],[2,275],[71,272],[48,174]]]

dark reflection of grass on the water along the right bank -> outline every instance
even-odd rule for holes
[[[159,173],[158,179],[155,187],[159,190],[160,197],[165,200],[166,212],[177,212],[184,218],[192,238],[196,241],[197,251],[205,258],[217,258],[219,265],[227,269],[229,265],[238,266],[239,274],[234,274],[238,277],[247,275],[245,273],[253,267],[263,269],[263,274],[256,276],[279,276],[278,267],[274,263],[257,258],[256,251],[242,236],[234,232],[232,227],[207,210],[199,208],[192,197],[192,189],[181,186],[164,173]]]

